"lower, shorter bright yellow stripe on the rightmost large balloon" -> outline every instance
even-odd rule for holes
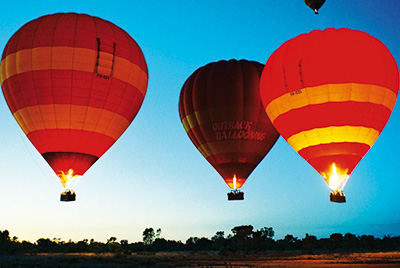
[[[379,131],[367,127],[324,127],[294,134],[287,139],[287,142],[296,152],[309,146],[338,142],[364,143],[371,147],[379,134]]]

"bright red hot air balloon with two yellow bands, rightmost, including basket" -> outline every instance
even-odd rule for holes
[[[399,89],[386,46],[362,31],[315,30],[268,59],[260,92],[282,137],[328,183],[331,201],[388,121]]]

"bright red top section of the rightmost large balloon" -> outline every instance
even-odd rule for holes
[[[265,106],[287,92],[324,84],[371,84],[396,94],[399,89],[398,67],[385,45],[345,28],[315,30],[286,41],[268,59],[265,70]]]

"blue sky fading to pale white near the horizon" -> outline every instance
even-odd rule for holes
[[[219,60],[265,64],[286,40],[314,29],[351,28],[381,40],[400,63],[397,0],[327,0],[319,15],[302,0],[5,1],[0,50],[25,23],[57,12],[109,20],[141,47],[149,69],[143,105],[120,139],[86,172],[75,202],[60,202],[57,176],[23,134],[0,94],[0,230],[19,240],[111,236],[142,240],[145,228],[186,241],[234,226],[273,227],[275,238],[335,232],[400,235],[400,108],[353,171],[347,203],[329,202],[320,175],[282,138],[228,202],[228,186],[189,140],[179,93],[199,67]]]

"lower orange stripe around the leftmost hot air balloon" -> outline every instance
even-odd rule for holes
[[[70,104],[29,106],[16,111],[14,117],[26,135],[35,130],[73,129],[97,132],[116,140],[129,126],[129,121],[117,113]]]

